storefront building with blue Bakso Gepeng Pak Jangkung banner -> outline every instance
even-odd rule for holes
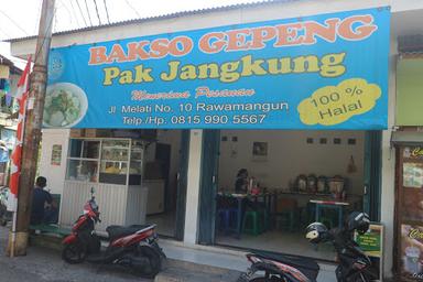
[[[332,249],[301,239],[303,227],[337,227],[360,209],[383,226],[383,275],[400,273],[403,153],[391,141],[394,126],[410,126],[399,120],[411,98],[398,93],[398,42],[422,11],[413,1],[275,1],[55,34],[40,173],[62,195],[61,224],[94,186],[100,230],[156,221],[189,246],[333,261]],[[11,43],[24,56],[35,40]],[[68,93],[75,109],[48,111]]]

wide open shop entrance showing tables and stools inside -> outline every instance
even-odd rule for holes
[[[198,242],[334,260],[304,228],[378,220],[380,148],[379,131],[205,130]]]

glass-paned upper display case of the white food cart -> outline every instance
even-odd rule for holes
[[[66,178],[141,185],[143,148],[132,139],[70,139]]]

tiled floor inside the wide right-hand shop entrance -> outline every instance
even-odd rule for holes
[[[218,245],[225,246],[299,254],[328,261],[335,259],[330,245],[321,245],[316,248],[301,232],[268,231],[259,236],[242,235],[241,239],[220,235],[216,239]]]

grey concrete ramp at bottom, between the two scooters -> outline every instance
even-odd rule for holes
[[[236,270],[167,259],[165,269],[155,276],[154,282],[236,282],[240,273]]]

